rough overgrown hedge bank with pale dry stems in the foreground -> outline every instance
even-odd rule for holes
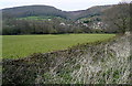
[[[3,58],[3,85],[130,84],[130,36],[26,58]]]

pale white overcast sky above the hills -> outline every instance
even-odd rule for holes
[[[31,4],[45,4],[53,6],[64,11],[85,10],[92,6],[102,4],[117,4],[122,0],[0,0],[0,9],[31,6]]]

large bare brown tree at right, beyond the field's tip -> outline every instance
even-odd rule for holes
[[[112,30],[124,33],[130,29],[130,4],[122,2],[105,11],[105,21]]]

